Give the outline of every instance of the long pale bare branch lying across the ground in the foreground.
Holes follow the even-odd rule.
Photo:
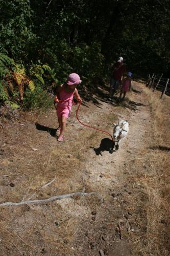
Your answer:
[[[47,198],[47,199],[27,200],[27,201],[21,201],[21,202],[18,202],[18,203],[6,202],[6,203],[0,204],[0,206],[21,205],[21,204],[41,204],[41,203],[48,203],[48,202],[51,202],[51,201],[67,198],[67,197],[72,198],[74,196],[90,196],[90,195],[98,195],[98,197],[100,197],[100,199],[101,199],[101,204],[104,202],[103,197],[100,194],[96,193],[96,192],[91,192],[91,193],[75,192],[75,193],[71,193],[71,194],[53,196],[53,197],[50,197],[50,198]]]

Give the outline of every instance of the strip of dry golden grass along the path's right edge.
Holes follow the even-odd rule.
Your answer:
[[[143,255],[169,255],[169,97],[159,99],[158,93],[144,88],[152,111],[152,134],[148,146],[145,164],[148,173],[138,182],[145,193],[145,212],[147,230],[142,243],[136,245],[135,251]]]

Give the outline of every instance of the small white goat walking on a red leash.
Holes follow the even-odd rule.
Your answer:
[[[118,123],[114,124],[113,138],[117,142],[115,146],[116,150],[118,150],[120,141],[127,136],[128,132],[129,132],[129,123],[127,120],[118,120]]]

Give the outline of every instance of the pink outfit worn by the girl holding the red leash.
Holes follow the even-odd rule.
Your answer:
[[[71,111],[72,99],[74,92],[67,93],[64,89],[61,89],[58,95],[59,103],[57,104],[57,116],[68,118]]]

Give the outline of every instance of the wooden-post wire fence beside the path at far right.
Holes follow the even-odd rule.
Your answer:
[[[153,90],[153,92],[155,92],[156,90],[161,91],[161,99],[163,99],[164,94],[170,96],[169,78],[162,78],[162,76],[163,74],[152,74],[152,76],[149,75],[146,82],[146,86]]]

